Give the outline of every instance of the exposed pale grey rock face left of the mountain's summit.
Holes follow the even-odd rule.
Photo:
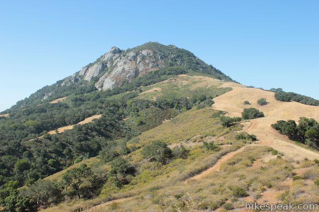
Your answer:
[[[69,85],[79,79],[91,81],[97,77],[96,88],[105,90],[164,66],[164,57],[161,58],[152,50],[123,51],[117,47],[112,47],[108,53],[102,55],[96,62],[83,67],[78,73],[64,79],[61,85]]]

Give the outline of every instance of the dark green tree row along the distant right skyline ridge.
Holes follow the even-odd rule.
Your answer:
[[[272,88],[271,91],[275,92],[275,98],[282,102],[298,102],[305,105],[319,106],[319,100],[307,97],[301,94],[296,94],[293,92],[285,92],[281,88]]]

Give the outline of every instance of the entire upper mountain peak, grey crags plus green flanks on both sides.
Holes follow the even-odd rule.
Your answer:
[[[150,71],[167,67],[179,67],[187,73],[197,72],[216,79],[232,81],[221,71],[206,64],[187,50],[173,45],[165,46],[157,42],[149,42],[127,50],[112,47],[108,53],[83,67],[79,72],[39,89],[29,98],[17,102],[11,109],[35,106],[70,94],[90,93],[96,89],[112,89]]]

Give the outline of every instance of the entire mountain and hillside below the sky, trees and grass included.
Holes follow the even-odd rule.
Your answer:
[[[1,113],[0,205],[221,212],[244,211],[247,201],[317,204],[319,106],[285,95],[241,85],[172,45],[114,47]]]

